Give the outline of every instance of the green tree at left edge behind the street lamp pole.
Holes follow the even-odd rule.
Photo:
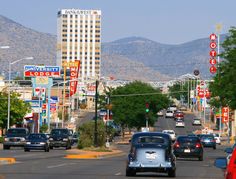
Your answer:
[[[30,105],[19,97],[19,93],[11,92],[10,126],[22,123],[24,116],[30,111]],[[0,128],[4,129],[7,127],[8,93],[1,91],[0,99]]]

